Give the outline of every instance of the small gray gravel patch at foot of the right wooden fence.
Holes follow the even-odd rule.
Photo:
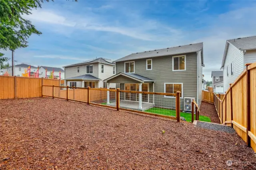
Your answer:
[[[220,125],[220,124],[218,125],[218,124],[198,121],[196,123],[196,126],[206,128],[206,129],[212,129],[215,131],[222,131],[222,132],[226,132],[226,133],[236,133],[236,131],[233,128],[225,126],[225,125]]]

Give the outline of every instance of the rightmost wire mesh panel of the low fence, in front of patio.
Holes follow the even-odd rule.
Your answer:
[[[176,117],[176,97],[120,92],[120,107]]]

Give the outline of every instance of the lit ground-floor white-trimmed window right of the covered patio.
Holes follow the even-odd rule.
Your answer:
[[[165,93],[180,92],[180,98],[183,98],[183,83],[164,83]],[[165,98],[175,98],[174,96],[164,96]]]

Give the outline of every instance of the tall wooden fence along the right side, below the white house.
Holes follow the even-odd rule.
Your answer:
[[[256,63],[246,64],[222,99],[214,94],[214,105],[220,123],[233,127],[256,151]]]

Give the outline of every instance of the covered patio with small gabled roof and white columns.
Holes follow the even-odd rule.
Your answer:
[[[104,82],[107,82],[108,89],[110,83],[116,83],[117,88],[119,87],[120,90],[154,92],[155,80],[139,74],[120,72],[107,78]],[[109,91],[107,93],[107,105],[115,105],[115,102],[110,102],[109,100]],[[154,107],[154,94],[120,92],[120,107],[144,111]]]

